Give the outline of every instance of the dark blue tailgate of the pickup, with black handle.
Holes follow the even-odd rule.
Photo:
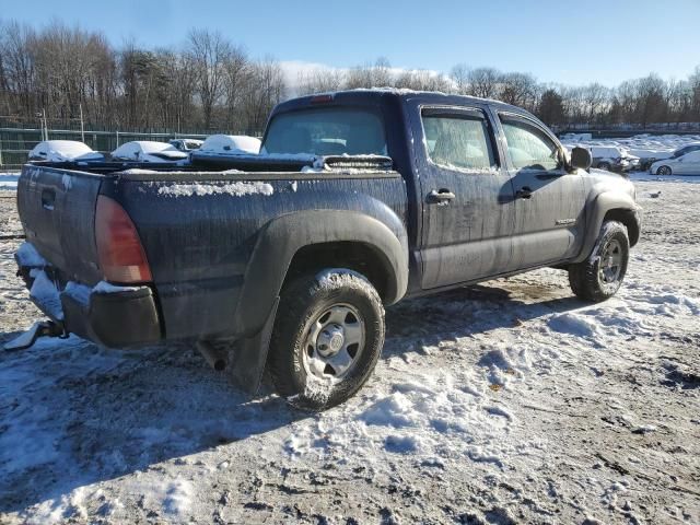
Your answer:
[[[18,210],[26,240],[67,280],[101,280],[95,246],[95,206],[108,176],[25,165],[18,183]]]

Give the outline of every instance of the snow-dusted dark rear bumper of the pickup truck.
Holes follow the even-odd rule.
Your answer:
[[[155,298],[151,288],[90,288],[75,282],[57,284],[50,267],[19,265],[36,306],[68,332],[97,345],[124,348],[160,341]],[[35,287],[35,281],[42,280]],[[58,306],[60,305],[60,306]]]

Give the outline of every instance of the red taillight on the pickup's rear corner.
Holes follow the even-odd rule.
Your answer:
[[[95,241],[100,268],[107,281],[133,283],[152,280],[133,222],[124,208],[103,195],[97,197]]]

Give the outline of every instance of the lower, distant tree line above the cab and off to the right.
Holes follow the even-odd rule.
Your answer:
[[[550,126],[700,121],[700,66],[684,80],[665,81],[650,73],[616,88],[598,82],[580,86],[541,83],[530,73],[464,63],[452,68],[448,75],[393,70],[382,58],[348,71],[311,71],[300,79],[302,93],[381,85],[495,98],[524,107]]]

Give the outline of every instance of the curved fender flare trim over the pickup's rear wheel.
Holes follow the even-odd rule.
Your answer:
[[[382,256],[388,272],[386,304],[406,294],[408,287],[408,238],[398,217],[386,213],[385,222],[358,211],[307,210],[281,215],[267,223],[253,249],[235,312],[240,334],[250,337],[269,317],[290,264],[305,246],[357,242]]]

